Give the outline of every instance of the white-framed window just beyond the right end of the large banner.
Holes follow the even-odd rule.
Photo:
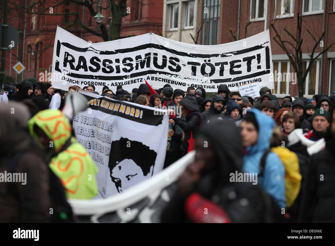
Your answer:
[[[273,81],[274,89],[272,89],[272,94],[280,97],[289,95],[289,85],[291,82],[289,61],[273,62]]]

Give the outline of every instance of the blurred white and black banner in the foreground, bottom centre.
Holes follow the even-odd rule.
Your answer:
[[[160,214],[178,188],[176,180],[194,161],[191,151],[151,179],[106,199],[69,199],[79,223],[159,223]]]

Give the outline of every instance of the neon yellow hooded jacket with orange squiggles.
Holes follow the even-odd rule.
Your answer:
[[[31,136],[38,141],[34,125],[41,128],[58,153],[71,137],[71,125],[60,110],[46,109],[28,121]],[[91,199],[97,195],[95,174],[98,169],[85,148],[72,137],[64,151],[51,159],[49,167],[61,180],[68,198]]]

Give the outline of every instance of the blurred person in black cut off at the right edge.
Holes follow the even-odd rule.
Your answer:
[[[326,146],[310,158],[300,222],[335,222],[335,107],[331,112],[331,135],[325,138]]]

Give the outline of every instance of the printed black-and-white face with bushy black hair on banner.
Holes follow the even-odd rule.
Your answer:
[[[157,153],[138,141],[127,138],[113,141],[108,167],[118,192],[153,175]]]

